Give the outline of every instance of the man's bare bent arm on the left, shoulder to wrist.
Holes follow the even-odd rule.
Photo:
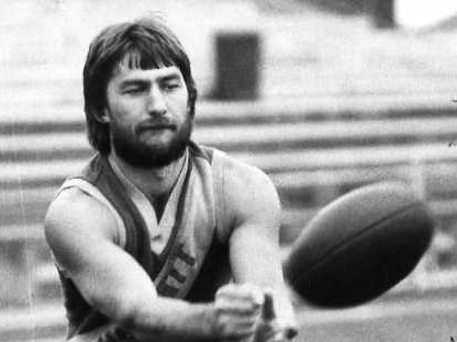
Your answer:
[[[115,244],[115,223],[99,202],[70,190],[51,206],[46,239],[59,265],[93,308],[135,337],[180,340],[227,334],[214,306],[158,297],[137,262]]]

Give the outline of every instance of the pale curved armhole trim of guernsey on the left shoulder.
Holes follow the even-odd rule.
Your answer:
[[[96,198],[97,201],[99,201],[100,203],[102,203],[109,210],[110,213],[113,215],[114,220],[116,223],[116,244],[120,246],[121,248],[125,247],[125,227],[124,227],[124,221],[122,220],[121,216],[119,215],[119,213],[115,210],[115,208],[113,207],[113,205],[110,203],[110,201],[107,200],[107,197],[103,196],[103,194],[96,187],[93,186],[91,183],[89,183],[88,181],[80,179],[80,178],[75,178],[75,179],[69,179],[67,181],[65,181],[65,183],[60,186],[60,189],[58,190],[57,194],[59,194],[60,192],[65,191],[66,189],[69,187],[77,187],[80,191],[85,192],[86,194],[88,194],[89,196]]]

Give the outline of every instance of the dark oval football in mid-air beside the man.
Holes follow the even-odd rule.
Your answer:
[[[324,207],[285,261],[285,277],[306,301],[355,306],[403,280],[433,236],[433,220],[400,183],[355,190]]]

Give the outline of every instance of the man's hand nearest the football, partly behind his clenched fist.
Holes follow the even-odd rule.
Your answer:
[[[298,326],[290,300],[285,295],[266,292],[255,342],[287,342],[297,334]]]

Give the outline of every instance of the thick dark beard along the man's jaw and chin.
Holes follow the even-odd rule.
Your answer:
[[[163,168],[182,157],[190,141],[192,121],[190,117],[178,128],[172,139],[165,146],[149,146],[141,142],[136,137],[111,126],[112,147],[119,158],[136,168]]]

